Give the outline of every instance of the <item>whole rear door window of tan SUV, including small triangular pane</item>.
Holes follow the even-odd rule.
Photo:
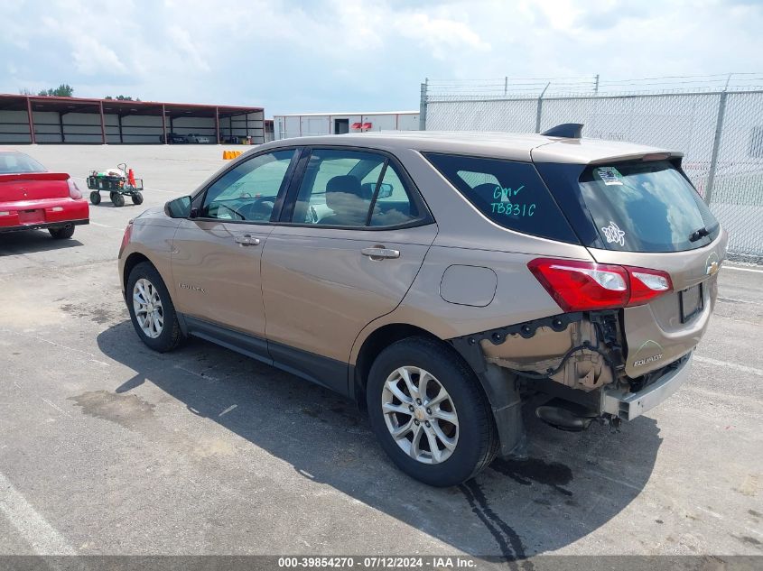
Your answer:
[[[316,226],[399,226],[419,219],[395,167],[373,152],[316,149],[297,195],[293,222]]]

